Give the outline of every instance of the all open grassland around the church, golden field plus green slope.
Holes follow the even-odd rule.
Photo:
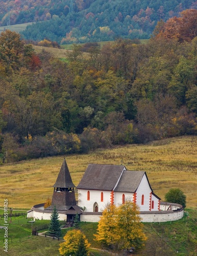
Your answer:
[[[66,161],[75,185],[78,185],[89,163],[123,162],[129,170],[146,171],[154,192],[161,199],[164,199],[170,188],[181,188],[187,196],[186,211],[189,218],[186,214],[182,220],[170,223],[145,223],[144,232],[148,239],[145,247],[137,251],[137,255],[152,256],[154,252],[156,256],[174,256],[179,251],[179,255],[186,256],[195,255],[196,248],[196,151],[197,138],[184,136],[153,141],[146,145],[118,146],[113,150],[97,150],[90,154],[66,156]],[[30,209],[35,204],[45,202],[48,197],[51,198],[53,184],[62,161],[63,156],[48,157],[1,166],[1,202],[8,199],[9,207]],[[43,223],[47,221],[36,220],[33,227]],[[21,255],[48,255],[50,251],[53,255],[59,255],[59,241],[51,240],[50,243],[45,238],[28,238],[28,234],[31,234],[31,225],[23,216],[12,218],[12,223],[9,224],[11,255],[20,255],[19,252]],[[96,223],[81,223],[80,228],[86,234],[91,247],[101,248],[101,245],[92,239],[96,233]],[[66,230],[63,234],[65,232]],[[0,234],[0,239],[3,240],[3,233]],[[43,244],[47,249],[40,251]],[[3,244],[0,247],[2,249]],[[96,251],[92,253],[95,256],[102,255]]]

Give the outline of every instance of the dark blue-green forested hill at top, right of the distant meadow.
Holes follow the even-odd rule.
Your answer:
[[[87,8],[88,7],[88,8]],[[26,39],[43,38],[61,44],[114,40],[115,38],[149,38],[157,22],[179,16],[185,9],[196,8],[192,1],[76,1],[73,13],[52,16],[47,22],[29,26],[22,34]]]

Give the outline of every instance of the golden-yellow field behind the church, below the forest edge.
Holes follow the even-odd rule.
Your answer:
[[[197,137],[154,141],[146,145],[117,146],[86,155],[67,155],[73,183],[77,186],[89,163],[123,164],[129,170],[144,170],[162,200],[170,188],[179,187],[187,196],[187,208],[197,207]],[[52,198],[64,156],[48,157],[0,167],[0,206],[30,209]]]

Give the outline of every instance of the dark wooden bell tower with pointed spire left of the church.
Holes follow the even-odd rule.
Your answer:
[[[76,186],[72,183],[65,158],[62,163],[62,167],[60,168],[56,183],[53,185],[53,187],[54,194],[52,198],[52,205],[47,209],[56,205],[58,210],[67,210],[70,206],[76,205],[74,191],[74,187]]]

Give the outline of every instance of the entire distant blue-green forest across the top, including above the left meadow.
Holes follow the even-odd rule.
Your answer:
[[[24,38],[44,38],[59,44],[149,38],[157,22],[196,9],[195,0],[70,0],[1,1],[1,26],[35,22],[22,32]],[[72,12],[73,9],[73,12]]]

